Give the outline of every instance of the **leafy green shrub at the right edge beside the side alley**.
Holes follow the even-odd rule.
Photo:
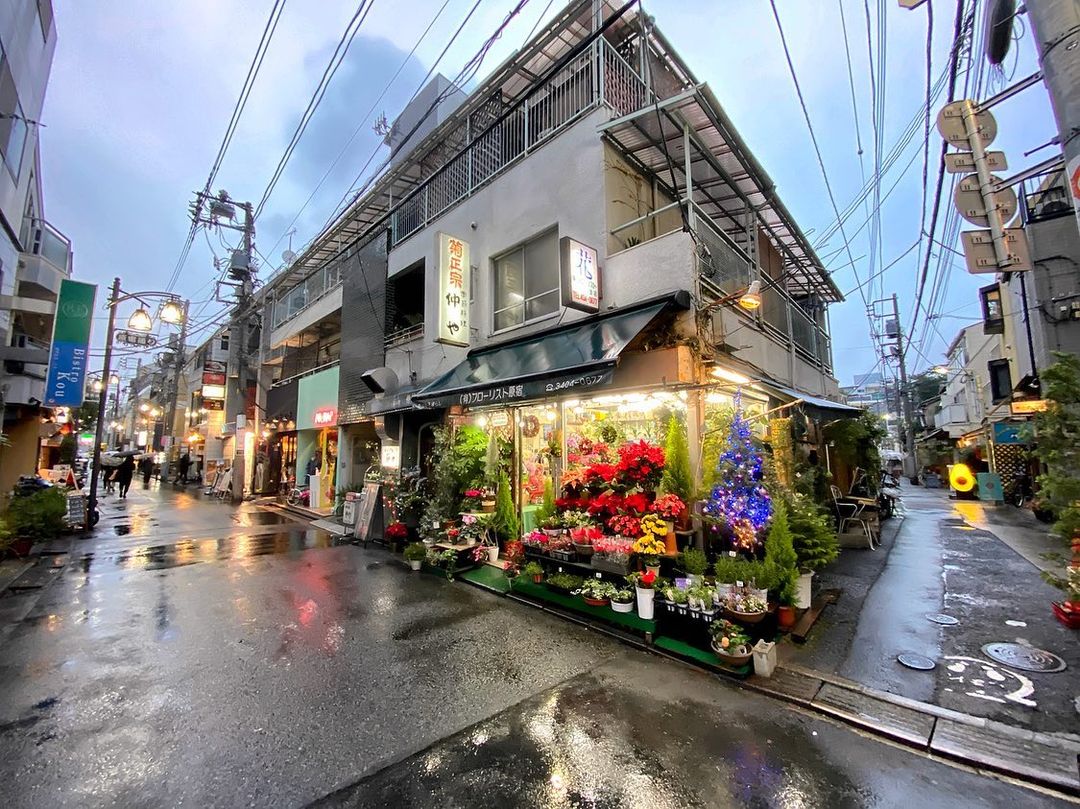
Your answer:
[[[1070,545],[1080,541],[1080,359],[1054,352],[1054,360],[1039,375],[1049,400],[1047,410],[1036,416],[1036,454],[1047,464],[1039,475],[1039,497],[1056,515],[1054,532]],[[1064,554],[1049,557],[1063,566],[1070,564]],[[1047,571],[1043,578],[1066,591],[1069,601],[1080,601],[1080,576],[1075,571],[1071,576]]]

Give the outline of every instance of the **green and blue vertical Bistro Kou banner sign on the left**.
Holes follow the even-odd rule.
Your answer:
[[[51,407],[78,407],[82,404],[96,292],[94,284],[68,279],[60,281],[45,379],[45,404]]]

